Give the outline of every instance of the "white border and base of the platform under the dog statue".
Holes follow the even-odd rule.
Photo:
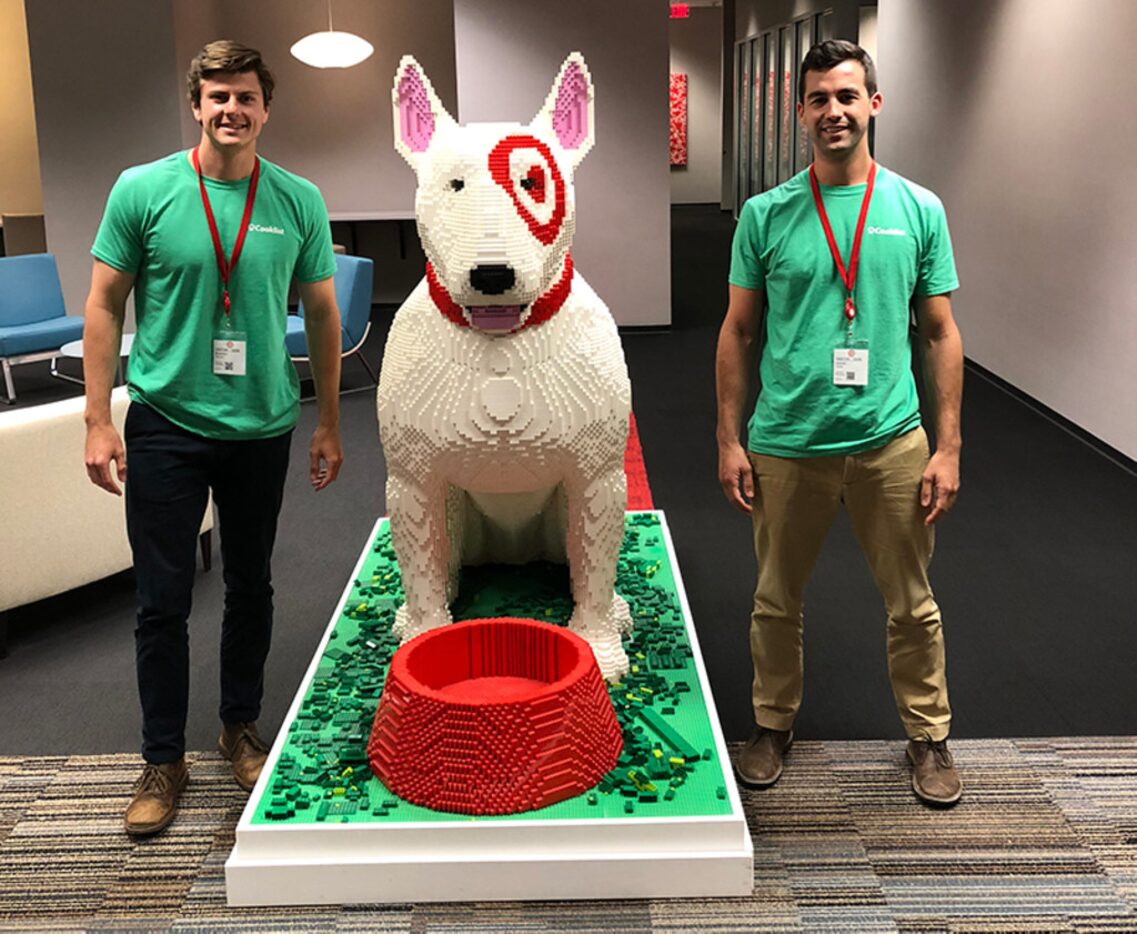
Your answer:
[[[293,721],[324,648],[359,576],[348,580],[273,744],[260,782],[236,828],[225,863],[231,906],[343,904],[549,899],[641,899],[748,895],[754,850],[741,802],[729,774],[719,726],[666,520],[658,513],[687,636],[694,651],[729,813],[705,817],[634,817],[588,820],[470,823],[254,824]],[[382,520],[380,520],[382,521]]]

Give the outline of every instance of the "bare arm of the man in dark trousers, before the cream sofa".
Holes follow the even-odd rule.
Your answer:
[[[126,451],[110,420],[110,389],[115,385],[126,296],[134,288],[134,274],[122,272],[98,259],[91,271],[91,291],[83,311],[83,382],[86,385],[86,476],[91,482],[116,496],[126,480]],[[111,474],[110,464],[115,464]]]

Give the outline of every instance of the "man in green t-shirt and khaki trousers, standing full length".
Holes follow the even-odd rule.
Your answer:
[[[813,165],[742,207],[719,336],[719,481],[750,513],[758,581],[750,618],[755,729],[737,771],[778,780],[802,701],[802,594],[841,504],[888,612],[888,662],[915,793],[953,804],[951,708],[939,607],[928,584],[932,527],[960,488],[963,345],[944,208],[878,166],[872,59],[827,40],[802,63],[798,118]],[[912,373],[918,327],[936,452]],[[764,328],[764,340],[760,340]],[[754,354],[760,391],[739,440]]]

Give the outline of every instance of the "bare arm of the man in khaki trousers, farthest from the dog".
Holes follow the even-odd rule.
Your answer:
[[[916,328],[928,404],[936,430],[936,453],[920,483],[920,504],[931,506],[930,526],[955,505],[960,493],[960,405],[963,399],[963,339],[948,295],[916,296]]]

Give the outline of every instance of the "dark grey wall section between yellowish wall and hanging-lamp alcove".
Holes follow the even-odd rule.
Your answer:
[[[180,146],[168,3],[27,3],[43,213],[69,314],[82,314],[91,242],[127,165]]]

